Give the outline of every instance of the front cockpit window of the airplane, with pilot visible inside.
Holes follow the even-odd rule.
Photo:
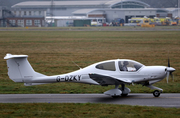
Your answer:
[[[142,64],[135,61],[119,61],[118,65],[120,71],[127,72],[136,72],[143,66]]]

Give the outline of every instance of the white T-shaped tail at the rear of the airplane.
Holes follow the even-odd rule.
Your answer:
[[[28,55],[11,55],[6,54],[4,59],[7,59],[8,76],[14,82],[25,83],[24,85],[38,85],[44,83],[30,83],[31,80],[38,77],[47,77],[46,75],[35,72],[29,61]]]

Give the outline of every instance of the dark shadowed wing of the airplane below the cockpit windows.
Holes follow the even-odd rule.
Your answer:
[[[89,77],[99,83],[101,86],[107,85],[119,85],[119,84],[131,84],[132,81],[128,79],[122,79],[113,77],[110,75],[102,75],[102,74],[89,74]]]

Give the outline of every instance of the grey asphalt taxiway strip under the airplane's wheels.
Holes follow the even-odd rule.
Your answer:
[[[129,94],[112,98],[104,94],[0,94],[0,103],[104,103],[180,108],[179,93]]]

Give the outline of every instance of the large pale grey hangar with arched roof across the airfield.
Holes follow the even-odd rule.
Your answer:
[[[86,16],[87,18],[115,18],[128,21],[134,16],[155,16],[156,10],[138,0],[83,0],[83,1],[28,1],[12,6],[13,9],[45,9],[46,16]]]

